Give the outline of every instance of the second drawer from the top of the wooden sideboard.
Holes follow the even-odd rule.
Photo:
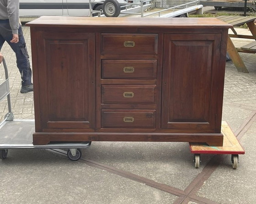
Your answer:
[[[157,60],[102,60],[102,79],[156,79]]]

